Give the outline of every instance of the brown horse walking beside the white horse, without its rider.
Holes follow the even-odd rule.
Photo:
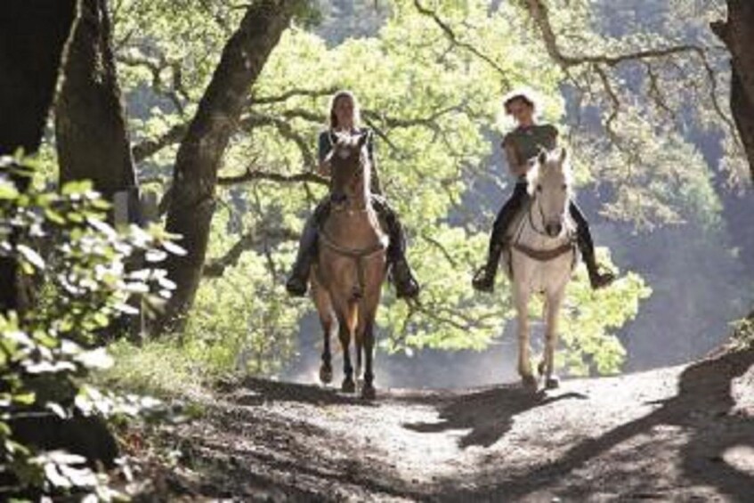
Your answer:
[[[356,377],[365,361],[361,396],[374,398],[374,324],[385,280],[387,239],[371,205],[368,137],[339,135],[329,154],[331,209],[320,229],[319,254],[313,265],[312,296],[324,330],[320,380],[332,380],[330,332],[335,322],[343,348],[345,378],[341,389],[353,393],[351,351],[356,345]]]

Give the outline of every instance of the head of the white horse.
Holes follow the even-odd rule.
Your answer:
[[[529,195],[534,210],[539,211],[548,236],[556,238],[566,231],[568,206],[571,200],[571,167],[565,149],[559,152],[542,150],[527,174]]]

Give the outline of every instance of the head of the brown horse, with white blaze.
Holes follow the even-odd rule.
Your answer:
[[[331,198],[336,205],[361,205],[369,197],[368,134],[336,134],[329,153]]]

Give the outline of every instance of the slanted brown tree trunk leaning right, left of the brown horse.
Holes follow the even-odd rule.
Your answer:
[[[189,131],[181,142],[174,167],[167,210],[167,231],[182,235],[188,252],[171,257],[168,277],[177,288],[158,321],[158,333],[181,330],[202,275],[210,223],[215,210],[217,170],[236,130],[251,85],[280,40],[303,0],[258,0],[241,20],[223,49],[223,56]]]

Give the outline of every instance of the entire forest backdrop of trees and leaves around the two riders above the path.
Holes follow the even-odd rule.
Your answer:
[[[317,349],[301,343],[313,305],[284,283],[328,194],[317,138],[338,90],[354,93],[374,134],[382,190],[422,285],[419,302],[384,288],[385,360],[481,353],[507,339],[507,280],[494,296],[470,280],[515,183],[500,148],[514,126],[503,96],[515,89],[536,96],[538,119],[559,131],[597,254],[619,275],[594,291],[582,266],[574,273],[559,368],[684,361],[750,311],[754,61],[742,47],[754,42],[754,11],[741,0],[56,8],[64,20],[34,12],[45,26],[35,43],[4,30],[28,46],[0,58],[9,81],[28,64],[49,67],[45,82],[40,70],[39,83],[0,87],[3,110],[23,102],[29,112],[0,126],[0,440],[12,483],[44,485],[81,464],[19,442],[15,421],[142,407],[85,385],[110,363],[102,346],[116,353],[116,377],[137,387],[159,372],[182,383],[285,375]],[[39,91],[34,106],[21,101],[27,91]]]

